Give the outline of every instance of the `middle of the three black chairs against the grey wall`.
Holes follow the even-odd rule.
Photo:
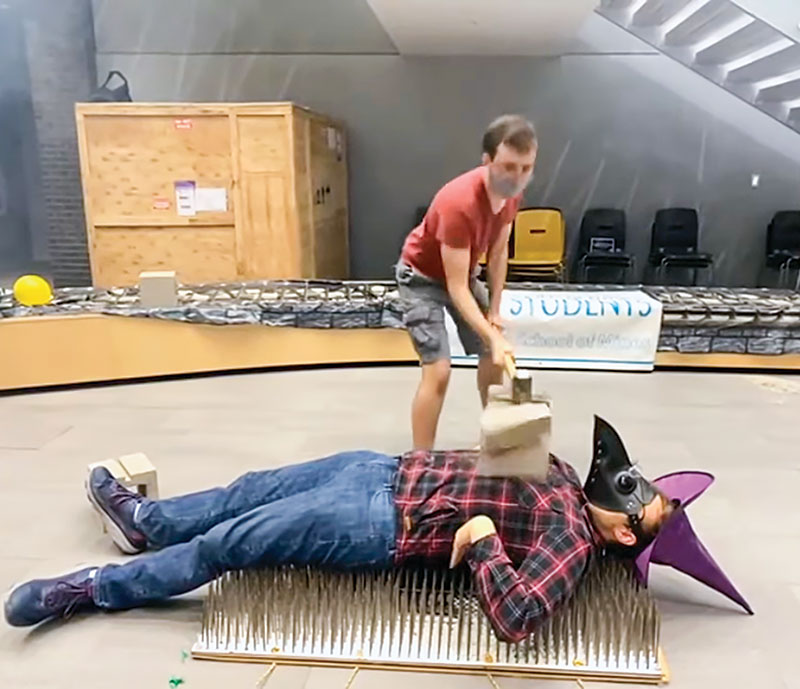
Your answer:
[[[714,257],[697,250],[698,225],[693,208],[662,208],[656,213],[649,263],[655,267],[658,281],[670,268],[691,270],[693,285],[697,284],[698,270],[708,270],[708,281],[713,281]]]

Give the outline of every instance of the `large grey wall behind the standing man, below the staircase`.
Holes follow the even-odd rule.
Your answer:
[[[702,248],[718,257],[717,281],[753,285],[769,218],[800,206],[800,137],[628,37],[614,50],[617,37],[599,19],[576,43],[580,54],[558,59],[344,54],[349,36],[326,39],[324,51],[309,40],[315,54],[305,55],[250,54],[257,45],[233,39],[228,54],[192,41],[191,54],[166,54],[146,38],[131,50],[113,20],[116,1],[98,3],[98,70],[124,71],[136,100],[290,99],[347,123],[355,277],[390,274],[415,207],[478,162],[483,127],[505,111],[538,124],[540,161],[526,200],[564,209],[571,246],[586,208],[623,207],[641,268],[656,209],[696,206]],[[594,47],[598,29],[602,48]],[[390,53],[384,39],[363,42]]]

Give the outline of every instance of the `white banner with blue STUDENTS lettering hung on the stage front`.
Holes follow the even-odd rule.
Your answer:
[[[639,290],[505,290],[500,314],[520,368],[652,371],[661,308]],[[453,364],[476,366],[449,314],[446,325]]]

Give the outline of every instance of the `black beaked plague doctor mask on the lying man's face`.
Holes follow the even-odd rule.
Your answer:
[[[646,541],[642,510],[658,494],[631,463],[622,439],[607,421],[594,417],[592,466],[583,487],[587,500],[604,510],[622,512],[639,542]]]

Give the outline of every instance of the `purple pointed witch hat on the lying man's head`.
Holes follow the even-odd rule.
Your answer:
[[[752,608],[700,542],[686,515],[686,508],[705,493],[714,477],[703,471],[679,471],[653,483],[671,500],[679,500],[681,508],[636,558],[638,579],[647,585],[651,562],[669,565],[719,591],[752,615]]]

